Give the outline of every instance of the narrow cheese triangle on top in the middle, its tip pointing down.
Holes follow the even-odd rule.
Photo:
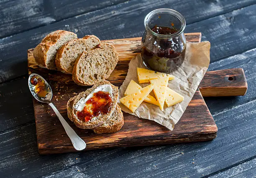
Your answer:
[[[159,107],[161,110],[164,110],[164,101],[166,95],[166,88],[168,85],[169,77],[161,77],[158,79],[150,80],[150,83],[153,85],[153,91],[156,96],[156,100],[159,102]]]

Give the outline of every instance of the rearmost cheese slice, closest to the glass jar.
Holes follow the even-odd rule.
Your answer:
[[[173,80],[175,77],[174,75],[155,72],[154,70],[148,70],[144,68],[137,68],[137,75],[139,83],[149,83],[149,80],[154,80],[161,77],[169,77],[169,80]]]

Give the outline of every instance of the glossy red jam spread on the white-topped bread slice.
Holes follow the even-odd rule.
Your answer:
[[[107,114],[111,108],[112,99],[110,94],[103,91],[93,93],[92,98],[86,101],[82,111],[77,112],[77,118],[84,122],[91,120],[98,115]]]

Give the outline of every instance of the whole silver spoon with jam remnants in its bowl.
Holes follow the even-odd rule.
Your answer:
[[[59,118],[62,126],[64,127],[67,135],[69,136],[72,145],[76,150],[84,150],[86,148],[86,143],[82,138],[80,138],[77,133],[70,127],[67,121],[62,117],[59,113],[57,108],[51,103],[52,98],[52,90],[51,86],[47,81],[41,76],[36,73],[32,73],[28,77],[28,87],[30,92],[32,93],[33,97],[42,103],[47,103],[56,113],[57,117]]]

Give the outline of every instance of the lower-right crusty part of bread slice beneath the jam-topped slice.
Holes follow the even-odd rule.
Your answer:
[[[119,105],[116,105],[114,113],[102,125],[93,128],[95,133],[113,133],[117,132],[123,127],[123,113]]]

